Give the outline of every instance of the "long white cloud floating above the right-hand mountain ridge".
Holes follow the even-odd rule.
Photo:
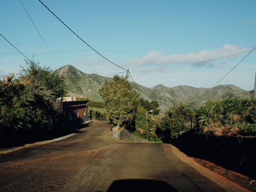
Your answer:
[[[252,50],[248,47],[239,47],[236,45],[225,44],[218,50],[202,50],[200,52],[176,53],[172,55],[163,55],[163,53],[154,50],[147,53],[143,58],[130,59],[129,64],[136,66],[145,65],[168,65],[168,64],[198,64],[213,61],[219,58],[234,57]]]

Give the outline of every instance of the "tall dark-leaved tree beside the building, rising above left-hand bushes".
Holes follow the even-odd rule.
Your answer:
[[[40,131],[50,130],[59,121],[59,98],[64,96],[63,82],[58,72],[48,67],[39,66],[34,61],[26,61],[26,65],[21,69],[20,82],[25,85],[24,96],[32,118],[31,125]]]

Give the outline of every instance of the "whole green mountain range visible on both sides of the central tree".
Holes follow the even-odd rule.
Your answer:
[[[89,97],[89,99],[95,101],[102,101],[98,91],[105,80],[110,80],[109,77],[102,77],[98,74],[86,74],[71,65],[57,69],[59,74],[61,74],[62,69],[69,96]],[[148,101],[158,101],[162,111],[167,110],[168,107],[179,102],[197,108],[210,100],[215,101],[235,97],[249,98],[253,95],[252,91],[244,91],[235,85],[218,85],[212,89],[193,88],[187,85],[168,88],[162,84],[154,86],[153,88],[146,88],[138,83],[136,83],[136,86],[140,89],[140,93],[144,99],[148,99]],[[207,94],[202,96],[206,91],[208,91]]]

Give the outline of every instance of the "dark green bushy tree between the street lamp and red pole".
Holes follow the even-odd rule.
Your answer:
[[[191,110],[184,104],[176,104],[165,112],[165,116],[157,123],[156,134],[163,142],[175,139],[181,131],[188,131]]]

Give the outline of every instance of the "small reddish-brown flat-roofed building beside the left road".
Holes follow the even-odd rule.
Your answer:
[[[88,120],[88,101],[63,101],[63,112],[69,121]]]

